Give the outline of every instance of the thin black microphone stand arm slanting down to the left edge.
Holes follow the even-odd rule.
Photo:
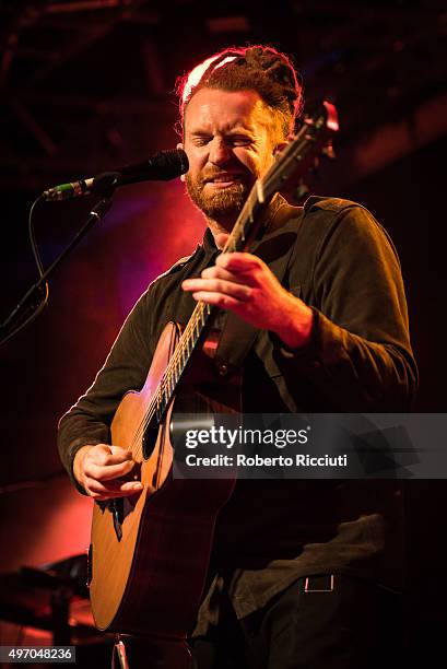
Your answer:
[[[102,189],[103,192],[102,199],[97,202],[89,214],[89,219],[81,227],[81,230],[75,234],[73,239],[63,249],[63,251],[56,258],[56,260],[49,266],[49,268],[42,274],[40,279],[31,286],[31,289],[25,293],[22,297],[17,306],[11,312],[8,316],[7,320],[0,326],[0,344],[5,343],[11,337],[13,337],[22,327],[25,327],[27,322],[30,322],[34,316],[37,315],[38,308],[43,305],[45,301],[45,284],[47,280],[52,275],[59,265],[67,258],[67,256],[73,250],[75,246],[81,242],[81,239],[86,235],[91,227],[97,222],[104,219],[106,213],[111,207],[111,196],[115,190],[115,183],[109,183],[104,185]],[[24,315],[31,310],[31,314],[25,318],[24,321],[19,322],[20,319],[23,319]],[[14,329],[14,326],[15,329]]]

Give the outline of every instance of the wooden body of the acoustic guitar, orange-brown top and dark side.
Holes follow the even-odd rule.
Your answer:
[[[173,403],[152,453],[142,453],[140,424],[178,339],[178,327],[168,324],[144,387],[123,397],[111,423],[111,443],[132,451],[144,488],[132,497],[94,505],[90,582],[99,630],[173,642],[185,639],[195,624],[215,517],[234,488],[233,480],[173,478]]]

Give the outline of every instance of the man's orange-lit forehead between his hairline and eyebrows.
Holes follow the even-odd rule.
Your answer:
[[[266,122],[266,105],[256,91],[201,89],[185,110],[185,129],[187,132],[205,127],[219,127],[222,132],[238,127],[255,130],[258,122]]]

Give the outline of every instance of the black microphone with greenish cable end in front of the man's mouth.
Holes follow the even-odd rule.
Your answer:
[[[188,156],[183,149],[158,151],[152,157],[134,165],[125,165],[111,172],[103,172],[89,179],[60,184],[44,190],[44,200],[67,200],[80,196],[109,196],[119,186],[140,181],[168,181],[188,172]]]

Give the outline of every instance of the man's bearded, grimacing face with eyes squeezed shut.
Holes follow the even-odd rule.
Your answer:
[[[188,193],[209,218],[233,225],[273,162],[275,126],[255,91],[201,89],[185,113]]]

